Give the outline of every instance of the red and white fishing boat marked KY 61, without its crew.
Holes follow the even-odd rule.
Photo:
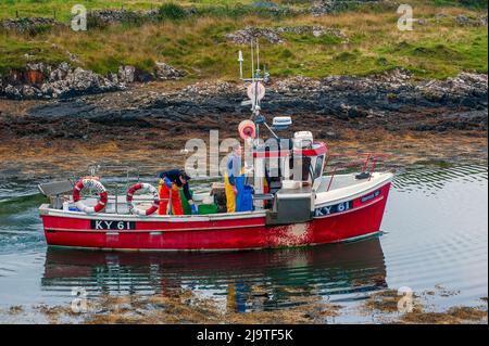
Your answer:
[[[252,114],[238,128],[251,157],[246,169],[251,198],[248,209],[162,215],[156,213],[158,190],[151,181],[141,179],[140,169],[127,168],[126,190],[121,194],[118,188],[115,193],[105,189],[105,181],[110,183],[112,178],[103,176],[103,165],[93,165],[86,177],[39,184],[41,193],[50,198],[39,208],[48,245],[117,251],[242,251],[354,241],[378,234],[393,178],[389,171],[376,171],[384,156],[364,154],[358,171],[340,174],[336,167],[325,169],[335,155],[310,131],[297,131],[290,138],[280,136],[292,119],[277,116],[268,125],[261,113],[268,74],[260,69],[258,42],[251,49],[251,78],[242,77],[241,52],[238,59],[250,99],[243,105],[251,105]],[[267,140],[261,138],[261,128],[271,134]],[[131,175],[131,169],[137,174]],[[199,210],[204,210],[201,207],[210,201],[220,204],[220,188],[206,178],[209,189],[193,194]]]

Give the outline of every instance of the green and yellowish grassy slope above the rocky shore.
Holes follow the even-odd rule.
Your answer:
[[[76,1],[5,2],[0,4],[3,16],[14,16],[15,11],[49,16],[57,8],[63,9],[58,15],[66,20],[71,2]],[[240,1],[244,5],[252,2]],[[310,4],[309,1],[277,2],[280,5],[291,4],[296,10]],[[128,10],[148,10],[156,8],[161,1],[92,0],[87,1],[87,8],[117,9],[123,3]],[[311,34],[285,34],[283,44],[262,40],[262,61],[269,66],[273,76],[367,75],[396,67],[410,69],[419,78],[444,78],[462,71],[487,73],[487,26],[460,25],[454,21],[460,14],[471,17],[487,14],[487,10],[479,9],[479,1],[414,1],[414,16],[426,23],[414,23],[412,31],[398,30],[399,15],[392,8],[359,7],[314,17],[308,13],[238,13],[235,11],[237,1],[179,3],[206,10],[179,20],[166,17],[152,23],[123,23],[89,28],[85,33],[68,28],[34,34],[0,33],[0,73],[20,68],[29,61],[57,63],[67,60],[66,51],[70,51],[78,57],[78,65],[101,74],[116,72],[120,65],[151,71],[156,61],[164,61],[186,71],[189,81],[202,78],[236,79],[237,51],[247,50],[247,47],[229,42],[226,34],[246,26],[300,25],[338,28],[347,35],[348,42],[335,36],[314,37]],[[448,17],[436,17],[440,13]]]

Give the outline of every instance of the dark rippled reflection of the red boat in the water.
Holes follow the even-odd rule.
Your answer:
[[[164,294],[179,287],[224,296],[236,310],[294,304],[300,297],[355,299],[385,287],[378,238],[309,248],[243,253],[104,253],[48,248],[45,291]]]

